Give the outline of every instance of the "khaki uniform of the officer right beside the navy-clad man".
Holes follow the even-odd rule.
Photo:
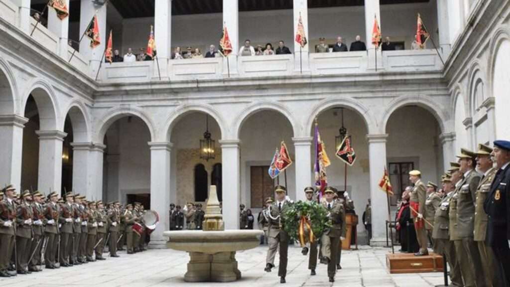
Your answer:
[[[491,183],[496,176],[496,169],[491,168],[484,175],[478,188],[476,189],[476,201],[475,201],[475,220],[474,220],[474,241],[478,246],[478,252],[480,253],[481,265],[483,266],[483,274],[486,279],[487,286],[492,286],[494,279],[494,252],[490,246],[486,245],[486,232],[488,217],[485,210],[483,210],[483,203],[486,201],[487,196],[491,190]]]

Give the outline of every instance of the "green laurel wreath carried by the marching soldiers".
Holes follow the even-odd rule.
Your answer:
[[[301,216],[310,218],[310,224],[315,238],[320,239],[322,233],[331,227],[331,221],[327,217],[327,210],[316,201],[298,201],[291,203],[283,213],[285,219],[284,230],[293,241],[299,241],[299,222]]]

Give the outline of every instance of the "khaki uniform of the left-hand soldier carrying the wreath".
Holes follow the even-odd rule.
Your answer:
[[[288,203],[284,201],[274,202],[271,205],[271,211],[269,213],[269,229],[268,229],[268,245],[269,250],[267,252],[266,264],[274,261],[274,255],[271,259],[271,254],[275,254],[275,250],[279,245],[279,267],[278,267],[278,276],[285,277],[287,276],[287,254],[289,251],[289,234],[285,232],[283,225],[285,224],[285,219],[282,218],[282,214],[285,209],[288,207]],[[274,266],[274,265],[273,265]]]

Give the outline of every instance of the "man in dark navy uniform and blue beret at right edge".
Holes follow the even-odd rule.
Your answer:
[[[496,162],[496,175],[483,209],[489,217],[487,243],[494,250],[496,279],[494,283],[510,284],[510,141],[495,140],[491,156]]]

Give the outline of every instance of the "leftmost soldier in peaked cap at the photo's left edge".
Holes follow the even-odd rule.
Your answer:
[[[7,272],[15,241],[16,206],[12,185],[4,187],[5,199],[0,202],[0,277],[10,277]]]

